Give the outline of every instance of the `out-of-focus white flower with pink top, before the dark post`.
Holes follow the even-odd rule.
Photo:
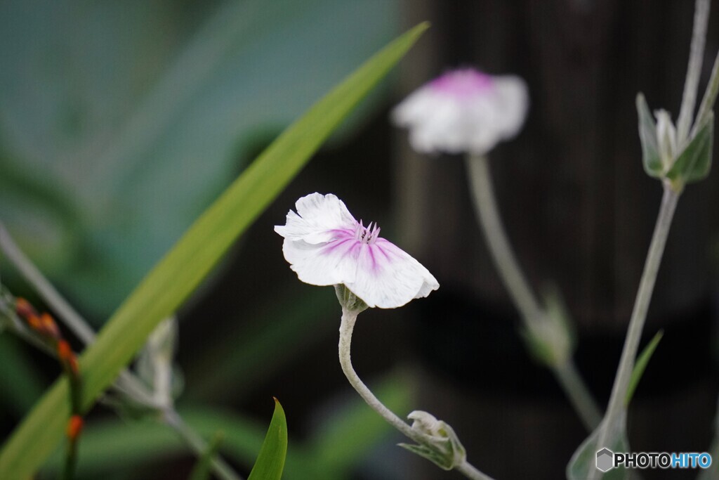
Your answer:
[[[409,128],[418,152],[484,155],[518,134],[528,105],[521,78],[464,68],[426,83],[395,107],[392,117]]]

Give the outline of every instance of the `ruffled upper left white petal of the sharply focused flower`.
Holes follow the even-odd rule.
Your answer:
[[[290,210],[286,225],[275,226],[275,232],[287,239],[319,244],[333,240],[337,230],[352,230],[356,223],[344,202],[333,194],[309,194],[299,199]]]

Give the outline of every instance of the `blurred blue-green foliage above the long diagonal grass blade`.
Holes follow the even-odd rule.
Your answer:
[[[0,2],[0,219],[104,320],[257,142],[395,35],[397,10]]]

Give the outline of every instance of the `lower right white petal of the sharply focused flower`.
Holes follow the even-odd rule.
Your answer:
[[[384,238],[362,243],[355,281],[344,284],[370,307],[395,308],[439,288],[434,276]]]

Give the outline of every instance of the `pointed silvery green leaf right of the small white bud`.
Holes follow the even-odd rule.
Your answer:
[[[713,140],[714,114],[710,113],[707,122],[674,162],[672,169],[667,173],[667,178],[684,184],[706,178],[712,167]]]

